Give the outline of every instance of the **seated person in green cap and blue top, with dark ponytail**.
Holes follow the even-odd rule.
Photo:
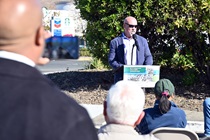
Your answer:
[[[145,116],[137,126],[141,134],[148,134],[159,127],[185,128],[185,112],[173,102],[175,89],[168,79],[159,80],[154,87],[156,101],[153,108],[145,109]]]

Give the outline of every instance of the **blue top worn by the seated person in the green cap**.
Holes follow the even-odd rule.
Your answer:
[[[145,109],[144,112],[145,116],[137,126],[142,134],[148,134],[159,127],[185,128],[187,125],[185,112],[173,102],[171,102],[171,109],[165,114],[159,110],[159,100],[155,101],[153,108]]]

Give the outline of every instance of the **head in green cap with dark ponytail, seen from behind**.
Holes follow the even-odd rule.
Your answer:
[[[168,100],[175,93],[174,85],[168,79],[160,79],[154,88],[155,96],[160,99],[159,109],[162,114],[167,113],[171,108]]]

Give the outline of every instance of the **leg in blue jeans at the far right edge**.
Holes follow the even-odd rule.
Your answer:
[[[200,140],[210,140],[210,98],[206,98],[203,102],[204,115],[204,137]]]

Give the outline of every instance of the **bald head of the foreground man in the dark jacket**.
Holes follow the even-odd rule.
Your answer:
[[[36,32],[42,26],[39,0],[0,0],[0,13],[0,49],[28,40],[35,42]]]

